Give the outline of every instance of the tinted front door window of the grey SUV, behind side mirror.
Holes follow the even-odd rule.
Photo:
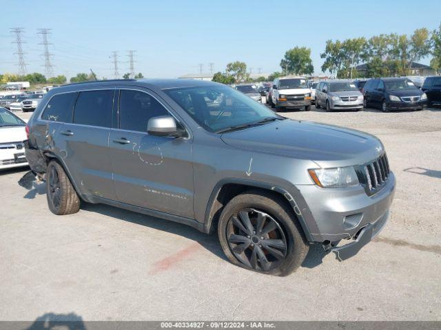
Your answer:
[[[143,91],[121,90],[119,97],[119,128],[130,131],[147,131],[152,117],[170,115],[156,98]]]

